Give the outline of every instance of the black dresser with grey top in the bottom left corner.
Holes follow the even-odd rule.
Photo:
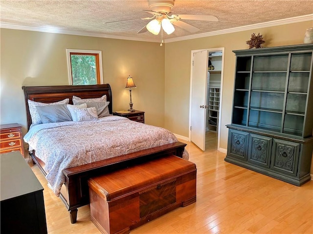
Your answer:
[[[46,234],[43,186],[18,151],[0,156],[1,234]]]

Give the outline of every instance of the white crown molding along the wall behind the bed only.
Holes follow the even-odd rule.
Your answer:
[[[157,39],[134,38],[134,37],[125,37],[125,36],[116,36],[116,35],[106,35],[106,34],[101,34],[101,33],[76,32],[76,31],[69,31],[69,30],[63,30],[63,29],[57,29],[57,28],[51,28],[51,27],[24,26],[20,24],[11,24],[11,23],[3,23],[3,22],[0,22],[0,28],[36,31],[36,32],[44,32],[44,33],[68,34],[68,35],[97,37],[97,38],[159,42],[158,38]]]

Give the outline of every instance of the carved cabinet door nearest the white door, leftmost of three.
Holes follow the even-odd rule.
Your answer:
[[[227,155],[239,157],[241,159],[247,158],[247,148],[248,148],[248,133],[239,132],[236,130],[229,130],[228,144],[231,145],[228,148]]]

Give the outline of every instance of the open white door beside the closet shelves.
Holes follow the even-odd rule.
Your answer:
[[[205,120],[207,97],[207,67],[209,52],[193,54],[191,90],[191,141],[205,150]]]

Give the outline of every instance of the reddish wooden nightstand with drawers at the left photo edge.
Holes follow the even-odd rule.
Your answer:
[[[25,157],[21,129],[18,123],[0,124],[0,154],[20,151]]]

